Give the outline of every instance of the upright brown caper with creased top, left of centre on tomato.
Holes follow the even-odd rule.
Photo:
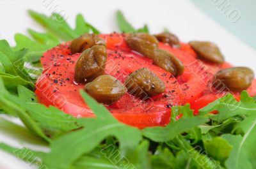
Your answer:
[[[75,80],[78,83],[91,82],[104,74],[107,59],[106,47],[95,45],[84,50],[76,63]]]

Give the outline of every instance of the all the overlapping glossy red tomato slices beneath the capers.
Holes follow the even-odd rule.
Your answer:
[[[147,67],[163,80],[166,91],[143,100],[126,93],[113,105],[105,105],[119,121],[138,128],[164,126],[170,122],[173,106],[190,103],[195,114],[198,114],[200,108],[228,93],[212,91],[211,87],[217,71],[232,67],[227,62],[211,64],[200,61],[188,43],[181,43],[180,48],[159,43],[159,48],[168,50],[185,66],[184,73],[175,78],[167,71],[153,65],[151,59],[132,51],[125,43],[125,36],[116,33],[100,34],[108,48],[106,74],[124,83],[130,73]],[[79,94],[79,90],[83,89],[84,85],[74,83],[74,67],[79,55],[79,53],[70,54],[70,42],[62,43],[45,52],[41,59],[45,70],[36,83],[36,95],[41,103],[54,105],[74,117],[93,117],[92,110]],[[256,81],[247,90],[251,96],[256,94],[255,86]],[[239,93],[234,96],[239,98]]]

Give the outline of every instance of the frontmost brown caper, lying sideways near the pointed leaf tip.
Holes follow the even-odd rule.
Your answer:
[[[122,82],[110,75],[101,75],[85,85],[84,90],[100,103],[111,104],[122,98],[127,89]]]

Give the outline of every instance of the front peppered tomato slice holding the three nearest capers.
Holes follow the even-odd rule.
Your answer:
[[[65,52],[68,54],[68,51]],[[58,55],[61,53],[58,52]],[[38,79],[36,95],[41,103],[54,105],[67,114],[72,114],[75,117],[93,117],[92,110],[79,95],[79,90],[83,89],[84,85],[74,84],[74,67],[79,55],[63,55],[62,59],[51,55],[56,61]],[[51,61],[47,57],[44,59],[44,61]],[[153,65],[147,57],[132,52],[108,50],[106,73],[118,78],[121,82],[124,82],[130,73],[143,67],[147,67],[163,80],[166,91],[154,98],[148,98],[146,101],[141,101],[127,93],[118,102],[110,106],[106,105],[106,107],[116,119],[131,126],[145,128],[166,125],[170,122],[170,108],[185,103],[176,78]]]

